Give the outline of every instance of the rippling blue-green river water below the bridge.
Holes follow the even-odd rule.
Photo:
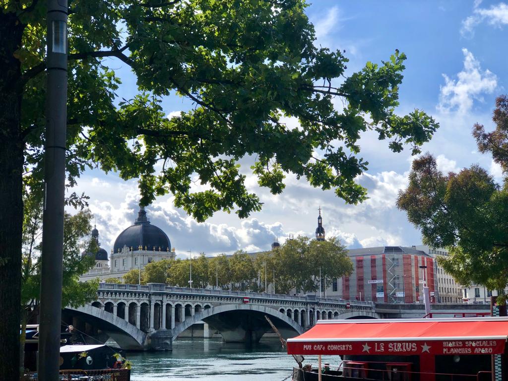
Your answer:
[[[173,352],[129,353],[132,381],[221,380],[282,381],[296,365],[277,339],[262,339],[250,347],[223,343],[220,339],[180,339]],[[323,356],[330,365],[339,363],[338,356]],[[309,356],[306,364],[317,364],[317,356]]]

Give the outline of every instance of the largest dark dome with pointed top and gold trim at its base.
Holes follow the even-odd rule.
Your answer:
[[[171,251],[171,242],[168,236],[161,229],[150,224],[150,221],[146,218],[146,212],[144,208],[141,208],[138,213],[138,218],[134,225],[125,229],[116,238],[115,244],[113,245],[113,251],[121,251],[123,246],[138,250],[139,246],[143,249],[158,251],[159,247],[161,251]]]

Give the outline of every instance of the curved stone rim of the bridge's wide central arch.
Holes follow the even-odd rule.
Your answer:
[[[205,308],[201,312],[196,312],[194,316],[189,316],[187,319],[185,319],[180,324],[176,325],[175,328],[171,330],[171,334],[173,336],[173,339],[176,339],[176,337],[185,331],[187,328],[192,326],[193,324],[196,324],[200,321],[205,320],[207,317],[217,315],[222,312],[228,312],[228,311],[257,311],[264,313],[268,315],[269,317],[276,317],[277,319],[281,320],[285,324],[291,327],[292,330],[295,331],[297,334],[303,333],[303,327],[295,322],[292,317],[281,313],[277,311],[276,309],[263,306],[263,305],[257,305],[257,304],[226,304],[226,305],[220,305],[213,308]]]

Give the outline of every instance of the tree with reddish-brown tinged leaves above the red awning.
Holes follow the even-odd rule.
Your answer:
[[[459,173],[442,173],[426,154],[412,164],[409,186],[397,206],[420,228],[426,244],[448,247],[439,258],[444,270],[460,284],[483,284],[497,290],[504,303],[508,281],[508,97],[496,99],[496,125],[487,133],[475,124],[473,136],[480,152],[490,152],[503,169],[498,184],[483,168],[473,165]]]

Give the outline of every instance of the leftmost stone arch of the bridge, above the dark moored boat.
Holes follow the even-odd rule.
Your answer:
[[[89,304],[77,308],[66,307],[66,309],[86,315],[101,324],[101,329],[115,340],[122,349],[142,350],[144,348],[147,338],[146,333],[124,319]]]

